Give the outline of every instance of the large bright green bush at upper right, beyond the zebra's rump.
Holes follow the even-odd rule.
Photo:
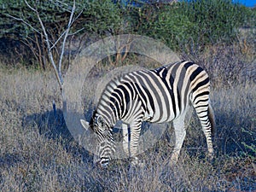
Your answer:
[[[253,9],[230,0],[146,4],[139,19],[141,34],[161,39],[172,49],[191,39],[201,48],[218,42],[232,44],[239,28],[255,26]]]

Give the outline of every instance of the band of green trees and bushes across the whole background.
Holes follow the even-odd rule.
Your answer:
[[[27,3],[38,8],[50,42],[55,42],[53,57],[58,58],[61,53],[58,39],[67,26],[73,1],[28,0]],[[23,60],[26,65],[47,68],[47,46],[35,12],[27,7],[24,0],[0,0],[0,4],[0,55],[5,60],[11,59],[9,62],[18,57],[15,62]],[[141,34],[160,39],[177,52],[188,47],[201,51],[209,44],[232,44],[241,26],[255,27],[256,23],[253,9],[231,0],[185,0],[175,3],[77,0],[74,15],[79,17],[70,28],[63,67],[68,67],[73,55],[80,49],[99,38],[125,33]],[[119,58],[120,55],[114,55],[108,59],[115,65]]]

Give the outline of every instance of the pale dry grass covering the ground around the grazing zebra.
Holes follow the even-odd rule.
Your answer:
[[[60,107],[52,73],[22,69],[0,72],[0,191],[254,191],[256,190],[256,84],[212,91],[217,119],[216,159],[204,157],[206,143],[196,119],[189,125],[177,166],[169,166],[166,137],[141,154],[145,168],[130,170],[113,160],[107,170],[73,141],[56,119]]]

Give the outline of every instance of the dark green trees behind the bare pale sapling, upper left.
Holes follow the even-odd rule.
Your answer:
[[[61,53],[60,38],[63,35],[63,29],[66,29],[70,9],[73,7],[73,1],[15,1],[1,0],[0,26],[3,30],[0,32],[0,42],[2,44],[2,53],[10,54],[9,49],[17,49],[15,54],[19,53],[20,59],[31,60],[32,64],[37,63],[41,68],[48,66],[47,44],[44,41],[44,32],[38,22],[38,15],[27,6],[27,3],[37,8],[38,14],[48,33],[49,41],[54,45],[51,49],[53,57],[56,60]],[[79,17],[70,28],[68,41],[71,43],[74,34],[79,37],[104,37],[106,34],[115,34],[122,30],[121,15],[119,15],[118,6],[111,1],[87,2],[76,1],[74,17]],[[84,40],[84,38],[82,38]],[[10,44],[11,43],[11,44]],[[30,55],[26,57],[26,55]],[[32,55],[32,56],[31,56]],[[67,55],[67,53],[66,53]]]

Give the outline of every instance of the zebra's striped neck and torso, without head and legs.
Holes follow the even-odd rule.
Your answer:
[[[98,108],[113,124],[118,119],[128,120],[128,115],[131,120],[131,108],[140,103],[143,120],[161,123],[185,112],[189,100],[200,108],[208,96],[207,73],[195,63],[182,61],[113,79],[102,93]]]

